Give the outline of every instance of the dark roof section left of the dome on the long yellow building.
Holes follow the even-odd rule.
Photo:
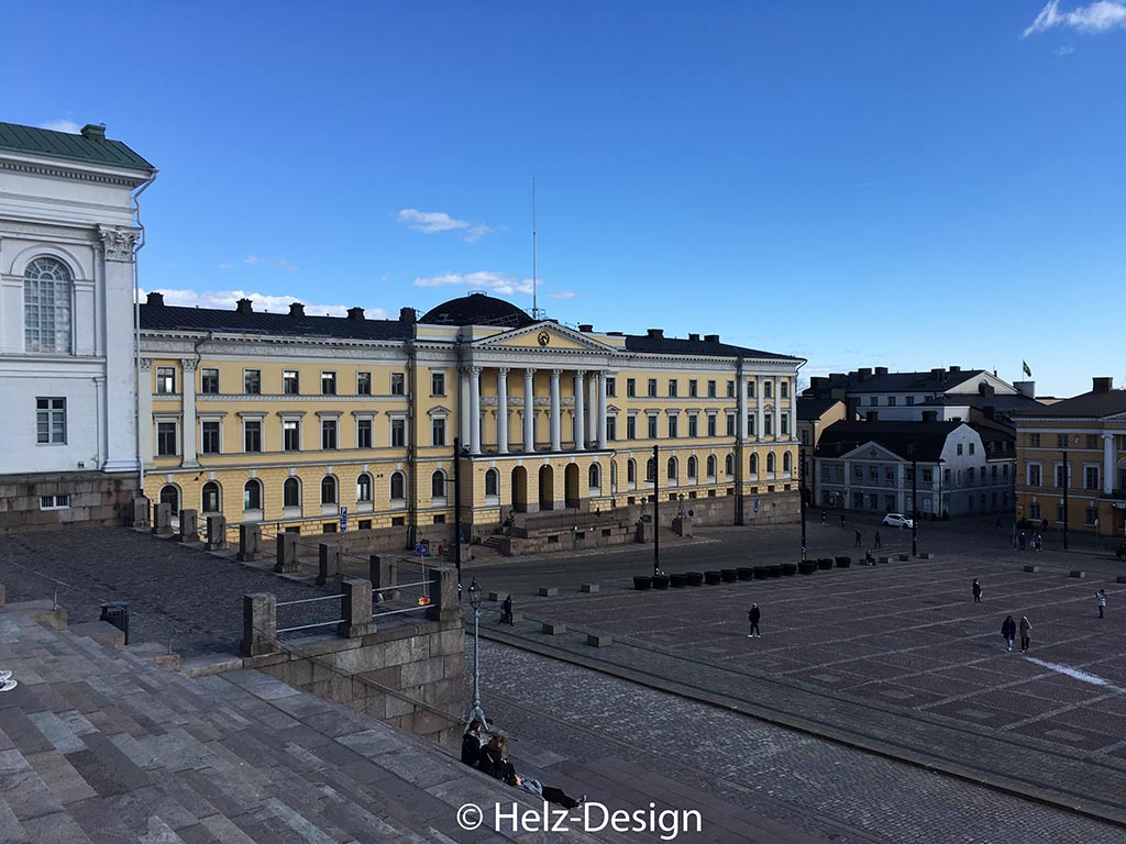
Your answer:
[[[141,329],[148,331],[217,331],[236,334],[332,338],[336,340],[409,340],[413,325],[397,320],[350,320],[346,316],[291,316],[239,313],[205,307],[142,305]]]

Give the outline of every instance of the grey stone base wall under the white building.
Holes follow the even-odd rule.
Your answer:
[[[72,524],[119,526],[131,512],[137,476],[101,472],[0,475],[0,533]],[[70,506],[42,510],[41,496],[70,495]]]

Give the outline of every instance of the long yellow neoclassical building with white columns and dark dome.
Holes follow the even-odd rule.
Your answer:
[[[804,362],[712,334],[575,330],[484,294],[397,320],[150,294],[143,486],[232,527],[401,529],[405,547],[452,537],[457,497],[464,538],[482,539],[512,512],[640,508],[654,474],[697,523],[785,520]]]

